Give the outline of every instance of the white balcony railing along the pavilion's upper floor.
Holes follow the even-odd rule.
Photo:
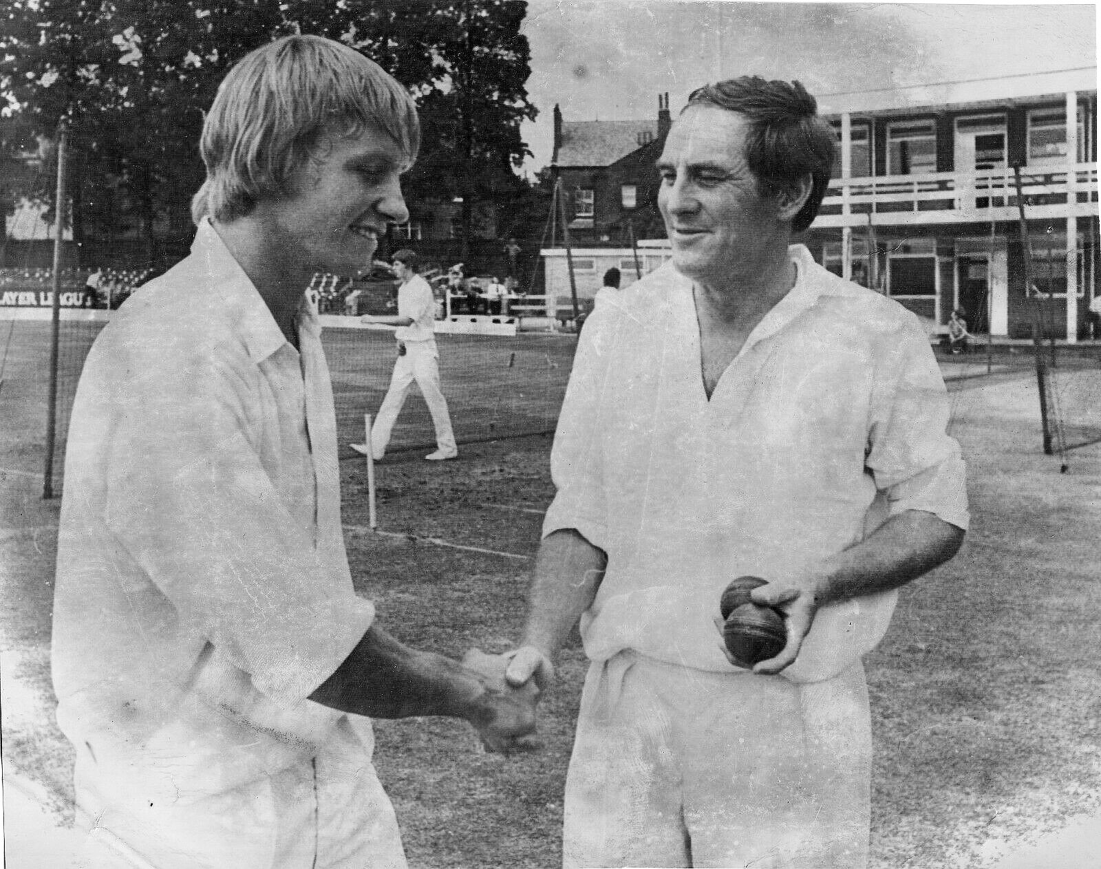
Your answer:
[[[1067,183],[1067,170],[1026,166],[1021,171],[1025,205],[1082,205],[1097,199],[1097,163],[1075,166],[1073,187]],[[1078,194],[1088,194],[1078,203]],[[848,194],[848,195],[846,195]],[[848,200],[850,216],[844,218]],[[973,219],[991,208],[1016,208],[1017,196],[1013,170],[1002,167],[989,172],[929,172],[920,175],[883,175],[864,178],[835,178],[822,200],[821,216],[836,222],[859,225],[869,213],[890,222],[892,215],[914,213],[958,213],[960,219]],[[1093,206],[1095,210],[1095,206]],[[907,218],[907,221],[912,218]]]

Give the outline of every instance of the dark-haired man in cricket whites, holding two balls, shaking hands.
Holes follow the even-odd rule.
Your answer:
[[[865,865],[860,659],[968,513],[917,318],[791,243],[832,160],[798,83],[694,93],[657,164],[673,261],[581,333],[504,656],[514,684],[546,685],[580,620],[567,867]],[[740,575],[786,611],[786,645],[752,671],[712,623]]]

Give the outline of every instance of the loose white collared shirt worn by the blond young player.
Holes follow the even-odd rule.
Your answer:
[[[318,750],[307,699],[373,619],[340,525],[316,313],[298,349],[204,221],[123,305],[73,410],[54,611],[58,721],[175,786],[226,790]],[[357,729],[370,739],[367,719]]]

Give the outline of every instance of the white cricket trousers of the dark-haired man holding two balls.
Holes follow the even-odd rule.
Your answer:
[[[612,662],[592,664],[581,696],[566,869],[866,866],[871,736],[859,662],[806,685],[634,652]]]

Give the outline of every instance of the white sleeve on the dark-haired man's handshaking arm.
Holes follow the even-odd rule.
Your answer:
[[[550,477],[556,493],[543,521],[543,536],[574,529],[598,548],[608,548],[602,425],[612,397],[610,360],[615,344],[615,317],[595,313],[578,339],[574,368],[550,450]]]

